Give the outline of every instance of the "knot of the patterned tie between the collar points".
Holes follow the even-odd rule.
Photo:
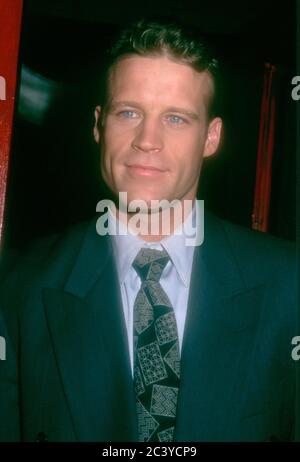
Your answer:
[[[158,282],[169,260],[170,257],[164,249],[142,248],[135,257],[132,266],[142,282],[150,280]]]

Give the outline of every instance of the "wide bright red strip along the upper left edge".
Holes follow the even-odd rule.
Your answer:
[[[16,91],[23,0],[0,0],[0,242]]]

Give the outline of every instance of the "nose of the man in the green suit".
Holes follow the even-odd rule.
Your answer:
[[[144,119],[137,127],[136,134],[132,140],[132,148],[135,151],[159,152],[163,148],[163,139],[159,122],[151,119]]]

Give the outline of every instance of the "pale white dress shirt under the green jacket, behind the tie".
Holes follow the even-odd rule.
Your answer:
[[[194,219],[195,206],[193,212],[188,216],[187,220]],[[116,226],[117,220],[119,230],[127,230],[124,223],[118,220],[114,213],[108,210],[108,229]],[[114,222],[114,225],[112,223]],[[163,238],[158,242],[146,242],[138,236],[130,234],[127,231],[126,235],[119,233],[112,236],[113,253],[116,261],[116,267],[119,277],[121,289],[123,310],[125,323],[128,335],[128,347],[131,362],[131,370],[133,375],[133,306],[137,293],[141,286],[141,280],[132,263],[137,256],[139,250],[151,248],[167,251],[170,261],[164,268],[160,284],[167,293],[172,306],[174,308],[178,337],[179,349],[181,352],[185,318],[187,312],[188,295],[194,255],[194,246],[187,246],[185,242],[184,227],[183,233],[180,235],[172,234]]]

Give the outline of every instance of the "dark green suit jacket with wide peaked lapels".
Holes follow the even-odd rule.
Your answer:
[[[137,441],[109,237],[95,221],[39,243],[2,278],[1,441]],[[177,441],[293,435],[293,247],[206,215],[181,354]]]

